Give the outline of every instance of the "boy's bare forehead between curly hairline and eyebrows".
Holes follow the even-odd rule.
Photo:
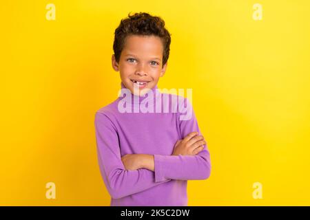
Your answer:
[[[123,47],[124,56],[132,54],[136,56],[162,56],[163,43],[158,36],[127,36]]]

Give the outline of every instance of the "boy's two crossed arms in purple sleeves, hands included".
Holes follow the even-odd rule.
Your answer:
[[[210,175],[211,163],[207,144],[198,148],[198,153],[192,151],[195,155],[188,155],[189,146],[192,145],[186,141],[182,144],[180,140],[175,145],[175,155],[132,154],[121,157],[116,128],[107,115],[96,113],[95,128],[101,175],[114,199],[142,192],[171,179],[207,179]],[[196,118],[180,122],[180,128],[183,136],[191,133],[190,131],[200,134]],[[200,141],[202,140],[196,143],[201,144]]]

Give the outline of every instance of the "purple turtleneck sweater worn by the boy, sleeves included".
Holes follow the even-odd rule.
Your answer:
[[[121,88],[126,89],[123,83]],[[152,91],[153,97],[122,93],[96,111],[96,147],[101,175],[111,196],[110,206],[187,206],[187,180],[209,178],[207,144],[197,155],[172,155],[177,140],[193,131],[202,135],[192,104],[183,96],[161,93],[157,85]],[[131,98],[131,108],[127,106],[130,102],[123,104],[125,97]],[[178,111],[172,111],[176,104],[173,98],[184,100]],[[163,111],[168,102],[169,111]],[[138,111],[139,103],[140,108],[154,112]],[[120,111],[124,106],[132,111]],[[186,111],[188,107],[191,114]],[[136,153],[154,155],[154,171],[125,170],[121,157]]]

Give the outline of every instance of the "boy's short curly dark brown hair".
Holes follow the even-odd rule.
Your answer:
[[[121,57],[125,39],[130,35],[159,36],[163,42],[163,65],[167,63],[172,34],[165,28],[165,21],[161,17],[154,17],[145,12],[133,15],[129,13],[126,19],[121,20],[114,35],[113,50],[117,63]]]

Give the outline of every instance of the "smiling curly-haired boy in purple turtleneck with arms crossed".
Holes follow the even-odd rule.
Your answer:
[[[115,30],[112,67],[120,72],[122,91],[129,92],[126,103],[120,96],[95,115],[110,206],[187,206],[187,180],[210,175],[207,144],[187,98],[168,94],[169,107],[175,107],[173,98],[187,101],[192,111],[187,120],[180,120],[183,107],[168,113],[161,108],[164,94],[157,83],[165,74],[171,42],[164,26],[160,17],[140,12],[128,14]],[[132,111],[121,110],[125,105]],[[135,111],[143,105],[161,111]]]

